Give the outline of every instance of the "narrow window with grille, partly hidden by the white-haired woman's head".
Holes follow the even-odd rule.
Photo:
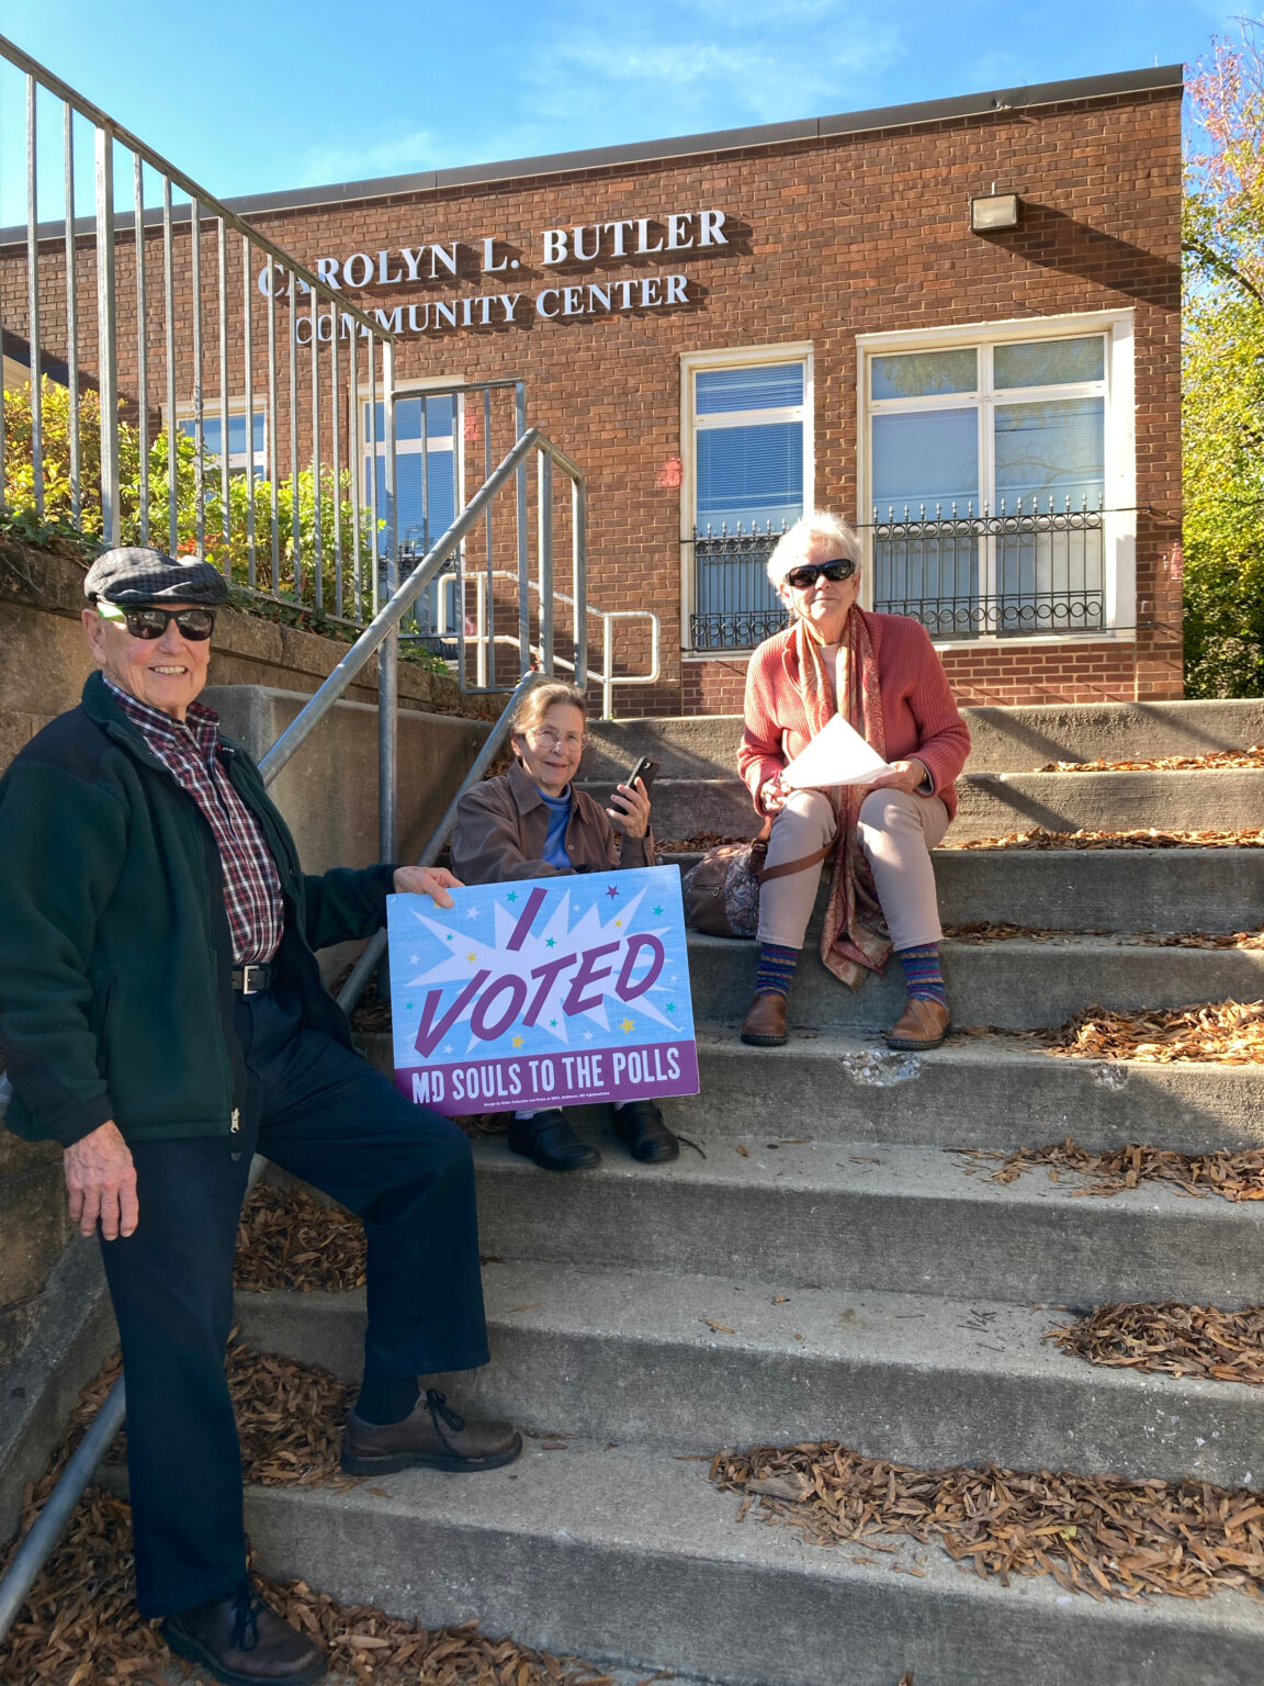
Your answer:
[[[809,497],[811,352],[691,354],[683,384],[686,637],[752,649],[785,620],[765,563]]]

